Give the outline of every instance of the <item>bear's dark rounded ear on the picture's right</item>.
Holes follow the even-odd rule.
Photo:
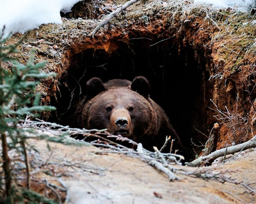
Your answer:
[[[149,81],[144,76],[136,76],[131,83],[131,90],[136,91],[146,99],[149,97]]]

